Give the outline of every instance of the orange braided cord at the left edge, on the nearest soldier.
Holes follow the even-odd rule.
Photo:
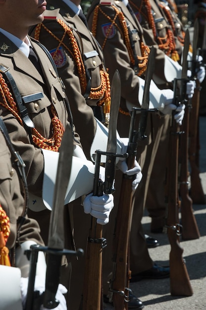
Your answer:
[[[6,212],[0,205],[0,265],[10,266],[8,257],[9,250],[6,247],[6,242],[10,235],[10,221]]]

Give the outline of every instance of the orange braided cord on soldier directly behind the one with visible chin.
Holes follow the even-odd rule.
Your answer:
[[[82,94],[86,92],[87,88],[87,78],[86,78],[86,72],[85,72],[85,66],[84,66],[84,61],[82,59],[81,52],[79,50],[78,44],[76,42],[76,39],[74,37],[72,29],[61,19],[56,19],[56,22],[63,28],[64,33],[61,39],[57,38],[43,23],[38,24],[36,29],[35,29],[35,39],[39,40],[40,37],[40,31],[41,27],[43,27],[56,41],[59,42],[55,53],[52,55],[52,58],[55,59],[55,55],[58,52],[58,49],[62,45],[66,51],[68,51],[76,66],[77,66],[77,71],[80,79],[80,86],[81,86],[81,91]],[[68,35],[72,51],[63,43],[63,40],[65,36]],[[101,83],[97,88],[91,87],[91,91],[89,94],[89,99],[101,99],[97,105],[103,105],[103,112],[104,113],[109,113],[110,111],[110,82],[109,82],[109,77],[108,73],[103,70],[103,68],[100,70],[100,78],[101,78]]]

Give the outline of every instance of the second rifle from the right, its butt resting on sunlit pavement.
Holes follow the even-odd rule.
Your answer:
[[[189,31],[186,31],[185,42],[189,43]],[[189,196],[188,190],[188,137],[189,137],[189,119],[191,104],[185,100],[185,114],[182,121],[181,130],[184,133],[180,135],[179,152],[179,193],[181,197],[181,220],[182,220],[182,239],[192,240],[200,238],[200,232],[193,214],[193,201]]]

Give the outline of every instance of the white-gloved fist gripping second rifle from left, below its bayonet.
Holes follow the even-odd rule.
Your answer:
[[[105,225],[109,221],[109,214],[114,207],[114,198],[112,194],[103,196],[93,196],[89,194],[83,202],[84,211],[87,214],[97,218],[97,223]]]

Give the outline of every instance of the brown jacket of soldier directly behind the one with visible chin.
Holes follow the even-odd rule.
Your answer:
[[[76,131],[80,135],[83,150],[90,159],[90,147],[96,132],[96,120],[90,106],[96,106],[100,99],[88,98],[88,92],[90,93],[91,88],[96,89],[101,84],[100,70],[105,69],[103,52],[84,22],[63,1],[49,0],[47,8],[48,10],[44,13],[44,25],[51,31],[51,34],[41,27],[38,40],[47,47],[52,56],[57,52],[54,61],[66,87],[65,92],[69,98]],[[69,26],[84,59],[90,79],[87,88],[91,83],[89,90],[86,91],[87,94],[82,89],[81,76],[77,70],[73,39],[66,34],[60,43],[64,29],[57,23],[57,19]],[[34,31],[32,36],[34,36]]]

